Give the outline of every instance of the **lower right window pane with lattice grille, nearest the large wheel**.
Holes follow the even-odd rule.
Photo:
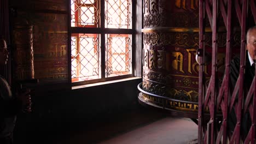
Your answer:
[[[131,74],[131,34],[106,34],[106,77]]]

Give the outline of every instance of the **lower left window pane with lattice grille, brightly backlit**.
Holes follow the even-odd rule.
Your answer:
[[[101,78],[98,34],[72,34],[72,82]]]

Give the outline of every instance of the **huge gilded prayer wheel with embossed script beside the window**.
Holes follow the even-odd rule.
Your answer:
[[[140,103],[194,113],[197,117],[199,64],[195,56],[199,47],[198,2],[144,1],[143,82],[138,85],[141,91],[138,97]],[[218,47],[225,47],[226,38],[222,37],[222,32],[218,38]],[[206,49],[211,53],[209,22],[205,41]],[[218,54],[220,71],[223,68],[224,56],[224,53]],[[205,66],[206,81],[211,75],[210,68],[211,64]]]

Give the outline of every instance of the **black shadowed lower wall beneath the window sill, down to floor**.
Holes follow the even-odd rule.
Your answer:
[[[18,116],[15,140],[34,143],[79,130],[82,125],[108,122],[120,113],[137,110],[137,85],[141,79],[79,89],[38,89],[33,111]],[[86,129],[86,127],[85,127]]]

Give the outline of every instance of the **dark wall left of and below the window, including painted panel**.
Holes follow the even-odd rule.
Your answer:
[[[32,113],[18,117],[15,137],[19,142],[27,142],[39,133],[47,136],[51,135],[50,131],[104,121],[136,109],[140,78],[71,89],[67,63],[67,0],[9,0],[9,9],[11,26],[24,20],[33,26],[34,76],[39,79],[32,94]]]

